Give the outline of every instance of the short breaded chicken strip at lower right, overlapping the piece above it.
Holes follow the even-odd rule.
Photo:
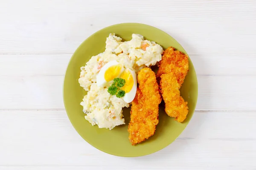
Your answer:
[[[160,91],[165,102],[165,111],[175,117],[178,122],[183,122],[189,112],[187,102],[180,96],[180,85],[174,74],[162,74],[160,80]]]

